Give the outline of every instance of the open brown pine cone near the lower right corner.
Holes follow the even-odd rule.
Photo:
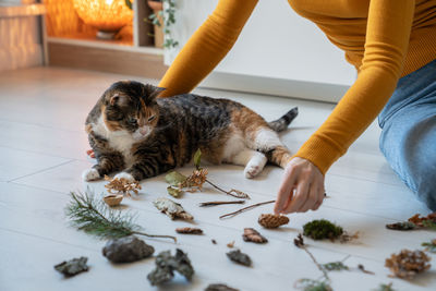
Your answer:
[[[399,254],[390,255],[386,258],[385,266],[388,267],[396,277],[412,279],[416,274],[429,269],[431,258],[421,251],[402,250]]]

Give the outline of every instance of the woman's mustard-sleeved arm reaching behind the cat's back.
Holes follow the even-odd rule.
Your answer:
[[[237,41],[257,0],[220,0],[214,13],[192,35],[160,81],[159,96],[191,92]]]

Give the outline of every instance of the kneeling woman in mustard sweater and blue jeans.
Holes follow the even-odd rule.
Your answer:
[[[220,0],[159,86],[192,90],[227,54],[257,0]],[[289,0],[344,50],[358,78],[289,161],[276,213],[316,210],[324,175],[379,114],[380,149],[397,174],[436,210],[436,0]],[[398,85],[397,85],[398,83]]]

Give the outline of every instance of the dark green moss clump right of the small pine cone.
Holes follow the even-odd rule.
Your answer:
[[[303,226],[303,234],[314,240],[335,240],[343,233],[343,229],[326,219],[313,220]]]

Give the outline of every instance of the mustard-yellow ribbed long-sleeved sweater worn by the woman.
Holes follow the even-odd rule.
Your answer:
[[[220,0],[171,64],[162,97],[192,90],[235,43],[257,0]],[[344,50],[358,78],[295,156],[325,173],[363,133],[399,77],[436,59],[436,0],[289,0]],[[295,44],[298,46],[298,44]]]

